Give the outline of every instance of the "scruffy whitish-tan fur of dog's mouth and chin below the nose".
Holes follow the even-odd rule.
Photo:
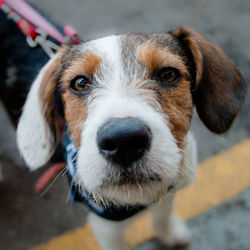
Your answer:
[[[149,205],[166,195],[166,190],[175,184],[167,185],[158,174],[145,166],[145,163],[133,164],[129,169],[120,169],[120,166],[109,164],[108,174],[103,183],[92,192],[92,197],[99,204],[106,206],[110,202],[120,206],[125,204]],[[129,172],[129,173],[128,173]],[[89,191],[81,185],[76,176],[76,183],[83,191]],[[170,187],[170,188],[169,188]]]

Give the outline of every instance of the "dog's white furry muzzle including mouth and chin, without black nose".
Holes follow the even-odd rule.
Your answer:
[[[77,180],[89,192],[119,204],[150,204],[156,201],[164,190],[167,192],[168,186],[175,185],[181,161],[181,150],[165,125],[166,120],[137,98],[120,99],[116,94],[116,97],[102,97],[99,102],[100,106],[98,102],[90,105],[90,114],[84,123]],[[142,160],[127,169],[107,162],[96,145],[96,133],[103,121],[124,113],[143,119],[152,130],[151,148]]]

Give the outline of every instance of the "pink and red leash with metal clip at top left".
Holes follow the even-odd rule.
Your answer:
[[[31,48],[41,46],[50,58],[54,56],[60,44],[81,43],[78,32],[72,26],[64,26],[64,35],[62,35],[54,25],[24,0],[0,0],[0,9],[16,23]],[[49,36],[57,43],[51,41]]]

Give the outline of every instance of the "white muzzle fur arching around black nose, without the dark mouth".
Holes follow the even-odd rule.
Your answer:
[[[85,188],[88,191],[98,193],[101,191],[100,186],[106,178],[108,163],[99,153],[97,147],[96,134],[98,129],[110,117],[127,116],[137,117],[149,125],[152,131],[152,142],[150,152],[147,154],[146,165],[159,176],[164,177],[165,185],[172,184],[178,174],[181,156],[175,139],[166,126],[165,119],[139,98],[105,96],[104,100],[100,99],[99,101],[99,105],[93,103],[94,107],[91,105],[89,109],[89,112],[94,115],[89,115],[84,123],[78,155],[78,178]],[[119,189],[111,187],[110,190],[105,192],[105,195],[110,198],[117,198],[117,192],[119,192]],[[146,192],[145,189],[144,192]],[[127,194],[121,192],[119,197],[123,195],[126,196]],[[133,195],[136,198],[130,197],[131,200],[148,200],[148,197],[141,193],[134,192]],[[126,201],[126,199],[126,197],[122,198],[123,201]],[[151,199],[155,199],[155,193],[152,193]],[[144,202],[146,201],[144,200]]]

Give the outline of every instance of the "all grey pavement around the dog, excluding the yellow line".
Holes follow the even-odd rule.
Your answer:
[[[249,0],[31,2],[58,23],[73,25],[86,40],[113,33],[164,31],[187,23],[219,45],[250,79]],[[250,91],[240,116],[225,136],[212,135],[195,117],[193,131],[199,143],[200,160],[249,137],[249,110]],[[65,178],[60,178],[43,197],[33,194],[33,185],[42,171],[24,171],[14,145],[14,131],[0,107],[0,157],[4,172],[0,183],[1,250],[30,248],[82,226],[85,221],[82,206],[68,206],[65,202]],[[250,216],[249,199],[248,190],[236,200],[190,221],[194,240],[188,249],[250,249],[250,225],[246,219]],[[151,242],[140,250],[160,247]]]

